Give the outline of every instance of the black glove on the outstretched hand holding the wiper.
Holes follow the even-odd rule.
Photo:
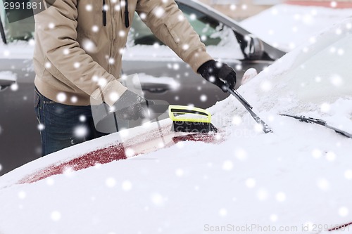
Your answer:
[[[225,63],[209,60],[203,63],[197,72],[208,82],[220,87],[224,92],[227,92],[226,87],[233,90],[236,85],[236,72]]]

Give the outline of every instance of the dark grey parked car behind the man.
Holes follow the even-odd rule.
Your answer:
[[[238,77],[250,67],[260,72],[284,55],[283,51],[266,44],[234,20],[206,5],[189,0],[178,0],[177,4],[199,33],[209,53],[234,67]],[[21,11],[11,11],[10,14],[21,14]],[[4,16],[4,8],[0,15],[4,26],[4,30],[0,30],[6,44],[0,45],[0,74],[9,73],[8,76],[0,75],[1,175],[36,159],[41,155],[41,149],[32,105],[34,20],[30,17],[9,23]],[[205,82],[175,53],[163,46],[137,14],[122,63],[123,73],[139,74],[146,98],[208,108],[227,97],[226,93]],[[177,84],[178,89],[174,89],[173,84]],[[12,89],[6,89],[8,87]]]

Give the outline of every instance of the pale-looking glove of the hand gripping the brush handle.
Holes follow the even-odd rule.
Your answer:
[[[137,93],[127,89],[114,104],[115,113],[119,119],[137,120],[149,117],[148,107],[152,100],[146,100]]]

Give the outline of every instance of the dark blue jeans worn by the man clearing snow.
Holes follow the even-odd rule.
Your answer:
[[[107,135],[96,131],[90,105],[56,103],[35,89],[34,110],[42,138],[42,156]]]

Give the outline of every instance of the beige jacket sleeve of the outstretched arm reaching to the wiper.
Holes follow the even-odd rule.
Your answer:
[[[174,0],[139,0],[136,11],[151,32],[188,63],[194,72],[213,59],[206,53],[206,46]]]

